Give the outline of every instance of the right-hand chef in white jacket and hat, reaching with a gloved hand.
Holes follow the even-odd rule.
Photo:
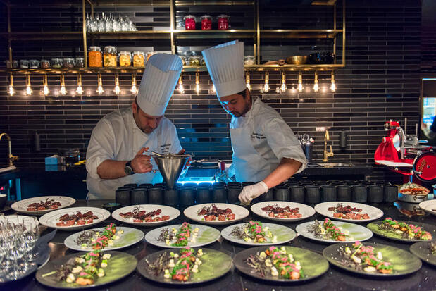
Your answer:
[[[254,99],[244,79],[244,43],[226,42],[202,51],[218,101],[232,115],[232,166],[229,176],[246,186],[239,200],[247,204],[306,168],[297,137],[285,120],[261,99]],[[259,181],[259,182],[258,182]]]

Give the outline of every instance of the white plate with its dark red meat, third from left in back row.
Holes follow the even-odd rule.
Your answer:
[[[117,221],[138,226],[157,226],[173,221],[180,216],[177,209],[157,204],[141,204],[125,206],[112,212]]]

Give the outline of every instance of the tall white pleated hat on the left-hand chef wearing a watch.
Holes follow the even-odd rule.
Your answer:
[[[182,60],[174,54],[154,54],[149,58],[137,95],[142,111],[149,116],[163,116],[182,68]]]

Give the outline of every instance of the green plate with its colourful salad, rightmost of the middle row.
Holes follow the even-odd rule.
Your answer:
[[[432,240],[436,235],[436,226],[415,221],[396,221],[387,217],[383,221],[374,221],[366,225],[376,235],[401,242],[422,242]]]

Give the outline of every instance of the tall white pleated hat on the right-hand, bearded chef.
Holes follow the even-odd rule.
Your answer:
[[[225,42],[201,53],[218,97],[244,91],[244,42]]]

